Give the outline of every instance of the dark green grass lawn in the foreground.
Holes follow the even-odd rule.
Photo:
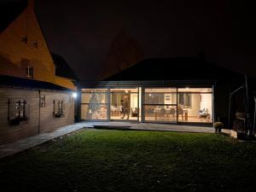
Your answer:
[[[253,191],[256,143],[221,134],[80,131],[0,160],[0,191]]]

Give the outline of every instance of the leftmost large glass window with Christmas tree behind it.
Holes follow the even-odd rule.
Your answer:
[[[83,89],[81,119],[108,119],[108,90]]]

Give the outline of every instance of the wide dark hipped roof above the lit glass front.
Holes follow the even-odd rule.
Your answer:
[[[218,67],[200,57],[171,57],[143,60],[105,80],[189,80],[231,77],[242,77],[242,75]]]

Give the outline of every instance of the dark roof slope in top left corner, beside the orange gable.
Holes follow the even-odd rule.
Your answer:
[[[0,3],[0,33],[3,32],[26,9],[26,0]]]

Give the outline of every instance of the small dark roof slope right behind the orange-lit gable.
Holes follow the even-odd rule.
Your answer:
[[[72,68],[69,67],[67,61],[61,55],[56,55],[51,53],[52,59],[55,61],[55,75],[62,78],[78,80],[76,74],[73,72]]]

